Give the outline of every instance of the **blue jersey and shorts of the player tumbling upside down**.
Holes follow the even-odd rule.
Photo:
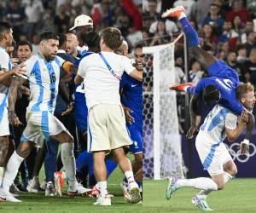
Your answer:
[[[195,95],[202,95],[203,89],[208,85],[214,85],[221,95],[218,103],[241,115],[243,107],[236,99],[236,88],[240,84],[236,70],[221,60],[215,61],[207,70],[210,78],[202,78],[195,88],[189,88],[188,91]]]

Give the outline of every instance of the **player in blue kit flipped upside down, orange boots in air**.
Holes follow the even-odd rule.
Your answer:
[[[214,85],[216,89],[212,89],[212,91],[208,89],[211,100],[205,99],[207,105],[218,102],[221,106],[230,109],[230,111],[235,112],[237,115],[241,115],[244,107],[242,107],[242,104],[236,99],[236,89],[240,85],[236,70],[228,66],[223,60],[218,60],[207,53],[207,51],[201,49],[199,46],[200,42],[198,35],[195,32],[195,29],[190,25],[183,7],[169,9],[162,16],[175,17],[180,21],[183,27],[183,32],[188,40],[189,48],[195,54],[195,58],[199,60],[205,68],[207,68],[207,72],[209,74],[209,78],[201,79],[196,87],[193,87],[192,83],[183,83],[170,86],[170,89],[172,90],[187,91],[193,94],[190,102],[190,116],[192,124],[188,131],[189,138],[193,137],[195,132],[198,130],[198,125],[201,122],[200,119],[195,119],[196,115],[200,114],[198,111],[195,111],[195,108],[198,107],[200,103],[200,97],[203,95],[203,89],[205,89],[208,85]],[[220,95],[218,95],[217,89],[220,92]],[[252,109],[248,110],[251,111]],[[254,121],[255,119],[253,114],[248,113],[246,136],[245,140],[242,142],[242,153],[246,152],[245,147],[247,147],[247,143],[252,135]]]

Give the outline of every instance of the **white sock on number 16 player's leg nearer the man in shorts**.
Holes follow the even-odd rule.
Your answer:
[[[75,158],[73,155],[73,143],[61,144],[61,160],[65,170],[68,185],[73,190],[76,187]]]

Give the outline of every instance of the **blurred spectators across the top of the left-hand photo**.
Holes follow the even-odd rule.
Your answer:
[[[67,32],[79,14],[90,15],[96,31],[118,27],[131,48],[142,40],[142,0],[0,1],[0,21],[12,24],[16,42],[28,40],[33,46],[41,32]]]

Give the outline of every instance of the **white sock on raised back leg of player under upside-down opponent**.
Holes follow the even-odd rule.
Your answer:
[[[199,189],[211,189],[217,191],[217,184],[208,177],[199,177],[195,179],[179,179],[176,182],[177,187],[195,187]]]

